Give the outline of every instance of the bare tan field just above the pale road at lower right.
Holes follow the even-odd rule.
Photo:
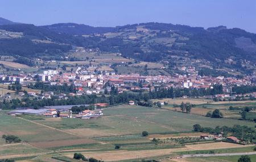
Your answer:
[[[248,147],[248,145],[242,146],[241,144],[235,144],[235,143],[215,142],[215,143],[191,144],[191,145],[186,145],[186,147],[192,150],[205,150],[205,149]]]

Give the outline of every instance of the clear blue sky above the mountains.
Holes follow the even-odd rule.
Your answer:
[[[256,33],[255,0],[0,0],[0,17],[38,26],[162,22],[242,28]]]

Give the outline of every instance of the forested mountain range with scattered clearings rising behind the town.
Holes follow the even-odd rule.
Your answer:
[[[170,23],[140,23],[117,27],[92,27],[59,23],[49,26],[10,24],[1,19],[1,30],[22,32],[22,38],[0,37],[0,55],[59,58],[72,47],[99,48],[122,53],[142,61],[171,61],[171,56],[204,59],[210,63],[241,65],[247,59],[256,63],[256,34],[225,26],[190,27]],[[11,34],[15,35],[15,34]],[[86,35],[86,36],[85,36]],[[19,39],[17,39],[19,38]],[[241,66],[240,66],[241,67]]]

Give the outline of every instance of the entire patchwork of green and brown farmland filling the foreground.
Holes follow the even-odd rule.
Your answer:
[[[205,152],[212,149],[220,152],[250,152],[253,150],[254,146],[245,147],[232,143],[181,145],[155,144],[151,141],[152,138],[199,136],[200,133],[191,132],[195,123],[200,123],[203,127],[233,126],[233,124],[254,127],[254,123],[251,122],[212,119],[142,106],[121,106],[105,109],[103,117],[91,120],[75,118],[35,119],[32,115],[11,117],[0,113],[0,135],[12,134],[25,141],[5,147],[6,144],[1,139],[0,157],[3,155],[5,155],[4,157],[15,158],[26,156],[32,158],[28,161],[33,162],[60,162],[61,160],[58,161],[51,157],[72,159],[73,153],[81,152],[86,157],[105,161],[132,161],[129,159],[157,159],[183,153]],[[144,130],[148,131],[150,136],[141,136],[141,132]],[[119,145],[121,148],[117,150],[114,148],[115,145]]]

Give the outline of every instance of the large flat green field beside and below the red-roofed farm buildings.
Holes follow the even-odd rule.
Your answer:
[[[93,130],[106,130],[117,135],[141,134],[144,130],[151,134],[187,132],[192,131],[193,124],[196,123],[200,123],[203,127],[232,127],[234,124],[254,127],[255,125],[253,122],[226,118],[207,118],[194,114],[142,106],[123,106],[117,109],[105,109],[102,118],[93,120],[61,119],[55,122],[38,122],[61,129],[92,128]]]

